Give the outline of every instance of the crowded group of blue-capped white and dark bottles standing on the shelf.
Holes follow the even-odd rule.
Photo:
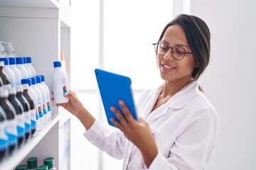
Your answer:
[[[14,64],[18,71],[14,74],[10,61],[23,62],[23,57],[0,58],[0,159],[14,153],[36,130],[43,130],[51,117],[50,90],[45,77],[28,74],[16,81],[16,73],[26,69],[21,71]],[[9,77],[15,83],[11,84]]]

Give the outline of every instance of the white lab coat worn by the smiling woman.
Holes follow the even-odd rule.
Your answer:
[[[194,81],[151,112],[162,89],[144,91],[137,103],[137,113],[149,123],[159,150],[148,169],[206,169],[218,134],[215,108]],[[139,149],[117,128],[96,120],[84,135],[110,156],[124,158],[123,169],[147,169]]]

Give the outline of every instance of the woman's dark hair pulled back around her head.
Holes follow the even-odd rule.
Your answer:
[[[173,25],[181,26],[186,33],[195,61],[192,78],[196,80],[203,74],[210,60],[210,30],[201,18],[180,14],[164,27],[159,42],[163,38],[166,29]]]

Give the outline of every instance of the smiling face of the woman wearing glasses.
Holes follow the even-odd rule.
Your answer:
[[[181,46],[186,52],[191,52],[183,28],[179,25],[169,26],[161,42],[169,47]],[[165,81],[191,81],[195,62],[193,54],[186,54],[182,60],[175,60],[169,49],[165,55],[157,55],[161,78]]]

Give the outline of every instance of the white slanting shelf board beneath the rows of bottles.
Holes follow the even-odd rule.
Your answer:
[[[41,131],[36,131],[34,135],[28,140],[21,148],[18,148],[16,152],[11,154],[9,157],[4,158],[0,162],[0,169],[11,170],[26,157],[29,152],[33,150],[36,145],[43,139],[43,137],[53,128],[53,126],[58,123],[59,116],[53,115],[50,122]]]

